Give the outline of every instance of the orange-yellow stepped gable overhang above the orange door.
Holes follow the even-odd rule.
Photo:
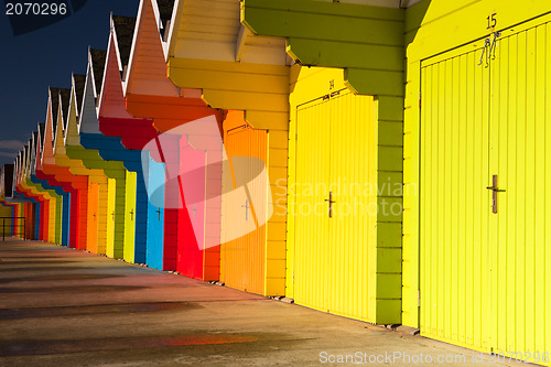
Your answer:
[[[241,4],[176,1],[168,75],[184,90],[202,89],[213,108],[244,110],[256,129],[288,130],[292,61],[285,40],[253,34],[241,23]]]

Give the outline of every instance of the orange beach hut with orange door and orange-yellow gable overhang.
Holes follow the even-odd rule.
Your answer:
[[[223,121],[223,175],[242,180],[223,179],[220,281],[284,295],[287,208],[274,205],[272,192],[288,174],[292,61],[283,40],[252,34],[239,14],[239,1],[175,2],[162,24],[168,75],[184,91],[201,90],[209,107],[235,111]]]

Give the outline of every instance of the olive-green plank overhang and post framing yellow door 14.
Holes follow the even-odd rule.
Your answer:
[[[404,19],[403,9],[363,4],[311,0],[241,2],[241,21],[253,34],[284,37],[287,51],[298,64],[341,68],[343,76],[335,77],[335,84],[344,79],[344,85],[354,94],[375,97],[377,120],[369,133],[367,149],[370,156],[377,158],[369,176],[369,182],[377,187],[387,177],[399,177],[398,184],[401,182]],[[291,77],[291,100],[295,96],[293,90],[301,85],[298,76],[299,72]],[[328,88],[329,85],[318,85],[306,93]],[[316,97],[320,96],[311,96],[311,99]],[[309,98],[299,95],[294,99],[309,101]],[[298,105],[292,106],[291,116],[294,116]],[[290,140],[290,144],[289,172],[290,179],[294,180],[294,139]],[[382,201],[388,202],[382,191],[378,191],[377,195],[378,205]],[[401,202],[401,197],[392,199]],[[386,261],[382,253],[390,253],[390,248],[395,255],[400,252],[401,214],[389,219],[382,212],[378,211],[374,217],[376,230],[369,236],[368,244],[368,289],[374,292],[368,319],[376,323],[399,323],[401,296],[397,294],[401,287],[396,277],[401,277],[400,259],[391,256],[391,260]],[[293,224],[288,224],[288,244],[292,244],[295,228]],[[288,251],[288,279],[292,267],[293,253]],[[292,296],[290,282],[288,291]]]

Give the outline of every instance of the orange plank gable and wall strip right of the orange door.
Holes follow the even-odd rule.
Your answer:
[[[248,32],[235,0],[179,2],[173,20],[166,55],[170,79],[184,90],[201,89],[213,108],[244,111],[251,128],[269,134],[270,184],[287,180],[290,68],[284,40]],[[285,292],[285,253],[271,250],[284,247],[285,226],[287,217],[281,215],[273,215],[266,225],[266,276],[258,293]]]

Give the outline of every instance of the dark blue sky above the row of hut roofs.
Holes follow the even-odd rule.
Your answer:
[[[0,164],[12,163],[39,122],[44,122],[47,88],[71,87],[71,73],[85,74],[88,45],[107,47],[109,12],[136,17],[139,0],[88,0],[71,17],[14,36],[1,3]]]

